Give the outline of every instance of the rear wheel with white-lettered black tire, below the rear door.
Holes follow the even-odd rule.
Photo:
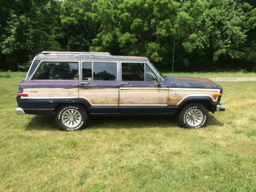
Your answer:
[[[55,115],[57,126],[64,131],[81,130],[88,124],[88,120],[87,111],[79,104],[64,104]]]

